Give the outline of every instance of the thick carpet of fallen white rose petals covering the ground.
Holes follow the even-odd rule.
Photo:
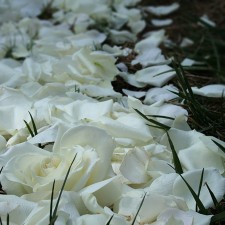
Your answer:
[[[214,141],[192,130],[187,111],[168,103],[175,76],[159,45],[166,39],[161,15],[179,4],[138,7],[139,0],[0,1],[0,217],[6,224],[46,225],[53,182],[53,207],[69,167],[57,211],[57,225],[208,225],[211,215],[195,211],[195,201],[173,169],[171,138],[183,178],[206,208],[225,193],[225,154]],[[52,16],[45,20],[44,13]],[[137,35],[155,16],[158,30]],[[136,42],[133,49],[121,47]],[[106,44],[106,43],[111,43]],[[124,45],[123,45],[124,46]],[[134,74],[117,58],[142,69]],[[113,89],[121,76],[147,92]],[[220,97],[224,86],[193,88]],[[140,101],[138,98],[144,98]],[[139,113],[158,115],[149,126]],[[32,118],[37,134],[31,135]],[[166,117],[171,117],[168,119]],[[34,131],[34,130],[33,130]],[[75,158],[73,164],[72,160]],[[141,205],[141,208],[140,208]],[[140,210],[139,210],[140,208]],[[137,215],[136,215],[137,214]]]

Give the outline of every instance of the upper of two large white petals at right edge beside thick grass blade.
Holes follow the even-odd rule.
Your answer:
[[[211,141],[210,137],[195,130],[182,131],[171,128],[168,133],[181,164],[186,170],[214,167],[219,169],[221,174],[224,172],[224,156],[221,155],[218,146]],[[166,135],[162,137],[160,143],[170,149]]]

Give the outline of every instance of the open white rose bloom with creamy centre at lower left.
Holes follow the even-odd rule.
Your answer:
[[[61,189],[68,168],[76,155],[65,190],[78,191],[85,186],[106,179],[111,171],[114,142],[105,131],[89,127],[74,127],[56,140],[54,151],[49,152],[29,143],[10,148],[0,156],[4,167],[0,179],[3,190],[18,196]],[[29,195],[31,194],[31,195]]]

